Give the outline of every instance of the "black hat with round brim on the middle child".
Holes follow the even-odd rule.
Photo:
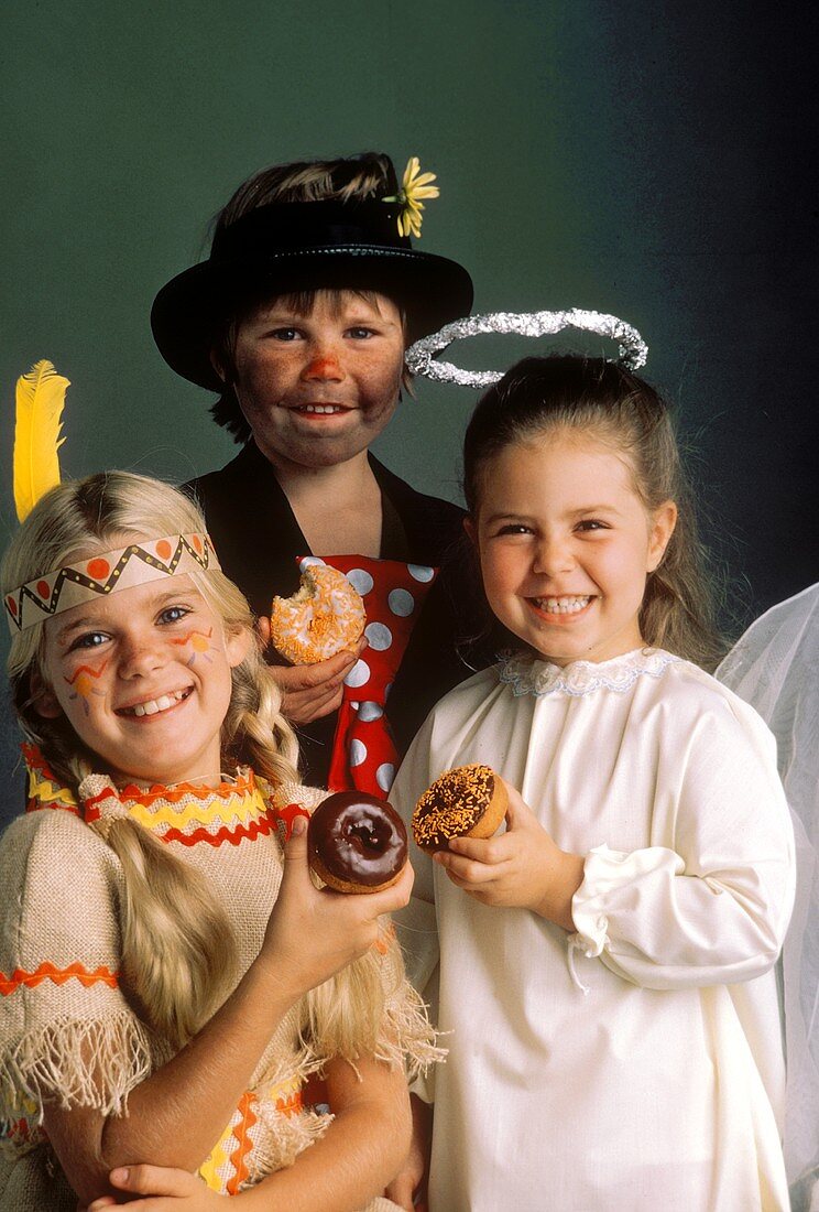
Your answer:
[[[217,230],[207,261],[162,287],[150,313],[165,361],[212,391],[211,350],[248,301],[291,291],[373,290],[406,311],[407,341],[468,315],[463,265],[418,252],[399,234],[400,202],[270,202]]]

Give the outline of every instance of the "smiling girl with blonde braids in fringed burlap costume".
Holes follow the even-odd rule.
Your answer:
[[[181,493],[61,485],[2,584],[34,811],[0,846],[0,1208],[118,1189],[151,1210],[363,1207],[406,1154],[401,1062],[433,1052],[379,926],[409,870],[367,897],[313,886],[322,793],[298,783],[247,604]],[[300,1105],[314,1071],[334,1119]]]

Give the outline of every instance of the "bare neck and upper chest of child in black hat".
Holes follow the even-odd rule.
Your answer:
[[[382,497],[366,451],[333,467],[275,468],[314,555],[378,558]]]

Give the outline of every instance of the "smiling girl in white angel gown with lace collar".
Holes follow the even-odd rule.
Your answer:
[[[433,710],[391,800],[409,819],[486,762],[510,806],[489,840],[413,848],[397,917],[452,1031],[430,1212],[784,1212],[791,824],[768,730],[703,670],[668,411],[618,365],[527,359],[479,404],[464,475],[515,651]]]

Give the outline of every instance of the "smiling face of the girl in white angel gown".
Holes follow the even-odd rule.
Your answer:
[[[506,446],[486,464],[468,530],[492,611],[565,665],[643,644],[646,577],[675,521],[672,502],[648,515],[617,451],[559,433]]]

